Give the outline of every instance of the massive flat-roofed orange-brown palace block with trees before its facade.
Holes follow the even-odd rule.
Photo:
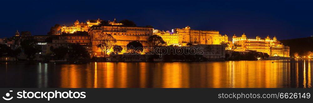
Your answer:
[[[97,37],[100,33],[111,34],[116,39],[116,45],[125,48],[126,45],[131,41],[139,41],[144,47],[147,46],[147,40],[149,36],[153,35],[152,27],[138,27],[138,26],[122,26],[122,25],[111,25],[111,26],[99,26],[94,25],[89,29],[89,35],[91,37],[92,51],[95,55],[100,55],[101,50],[97,48]],[[112,51],[112,49],[110,50]],[[110,51],[108,53],[110,53]],[[120,53],[125,53],[126,49]]]

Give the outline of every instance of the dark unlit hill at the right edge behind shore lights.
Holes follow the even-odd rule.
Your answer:
[[[313,51],[313,37],[280,40],[280,42],[290,47],[290,56],[296,52],[303,55],[308,51]]]

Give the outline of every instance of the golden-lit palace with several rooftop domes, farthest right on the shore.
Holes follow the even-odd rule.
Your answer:
[[[238,45],[234,51],[256,50],[270,56],[289,57],[290,48],[280,43],[275,36],[273,39],[270,39],[269,36],[265,39],[261,39],[259,36],[256,39],[247,39],[245,34],[242,34],[241,37],[234,35],[233,45]]]

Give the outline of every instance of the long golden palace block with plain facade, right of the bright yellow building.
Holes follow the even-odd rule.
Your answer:
[[[214,30],[193,30],[189,26],[185,28],[175,28],[172,32],[179,36],[179,44],[220,44],[228,42],[228,36],[219,34],[219,31]]]

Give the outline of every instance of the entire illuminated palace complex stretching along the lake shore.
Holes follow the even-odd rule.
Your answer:
[[[198,45],[209,50],[204,50],[204,55],[212,59],[223,59],[225,54],[231,51],[245,52],[247,50],[256,50],[258,52],[267,53],[270,56],[289,57],[289,47],[284,46],[274,36],[261,38],[257,36],[254,39],[247,38],[246,34],[233,35],[232,41],[228,40],[226,34],[222,35],[219,31],[214,30],[194,30],[192,27],[174,28],[171,31],[161,31],[154,29],[151,26],[123,26],[122,23],[117,23],[115,19],[109,21],[110,26],[100,26],[102,20],[87,20],[86,23],[76,20],[74,25],[63,25],[60,29],[62,33],[55,35],[20,35],[18,31],[12,38],[0,39],[0,44],[7,44],[11,48],[17,48],[23,39],[35,39],[42,45],[41,55],[50,55],[49,48],[58,48],[61,46],[69,46],[69,44],[78,43],[85,47],[85,49],[93,56],[100,56],[101,50],[97,47],[96,41],[99,34],[111,34],[116,39],[116,45],[125,48],[131,41],[139,41],[144,47],[147,46],[149,36],[159,35],[167,43],[173,46],[189,46],[188,43]],[[85,31],[88,35],[74,35],[74,32]],[[52,42],[45,40],[53,36]],[[227,43],[229,46],[225,48],[221,44]],[[110,50],[112,51],[112,50]],[[108,53],[110,53],[110,51]],[[127,52],[125,49],[122,53]]]

